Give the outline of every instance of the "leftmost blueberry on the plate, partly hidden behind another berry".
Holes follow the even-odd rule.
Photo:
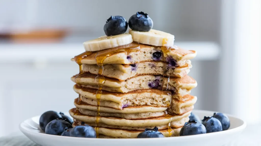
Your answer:
[[[55,120],[57,118],[62,118],[62,116],[55,111],[47,111],[43,113],[43,115],[41,115],[39,120],[40,128],[45,132],[46,125],[52,120]]]

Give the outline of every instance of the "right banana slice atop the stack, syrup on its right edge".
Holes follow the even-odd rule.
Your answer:
[[[174,35],[155,29],[151,29],[148,32],[141,32],[130,29],[129,34],[132,35],[133,41],[147,45],[166,47],[171,47],[174,45]]]

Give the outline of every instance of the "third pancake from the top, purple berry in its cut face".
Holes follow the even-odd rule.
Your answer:
[[[80,74],[77,78],[72,77],[71,79],[81,87],[98,89],[98,83],[95,81],[96,75],[90,73]],[[75,79],[74,79],[75,78]],[[154,76],[154,75],[139,75],[126,81],[119,81],[117,79],[106,78],[103,84],[102,90],[110,92],[128,93],[135,90],[143,89],[166,89],[167,88],[167,77]],[[178,96],[184,96],[190,93],[192,88],[197,86],[196,80],[188,75],[183,78],[170,77],[168,90],[173,91]]]

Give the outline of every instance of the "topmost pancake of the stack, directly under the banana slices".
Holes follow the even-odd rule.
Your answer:
[[[192,59],[197,55],[196,51],[193,50],[183,50],[181,48],[179,49],[173,49],[170,52],[168,52],[168,57],[164,57],[163,52],[161,51],[161,47],[157,46],[149,46],[144,45],[140,43],[130,43],[128,45],[123,45],[115,48],[100,50],[97,52],[93,52],[91,55],[86,56],[84,59],[81,60],[82,64],[96,64],[95,56],[99,53],[102,54],[104,52],[110,52],[110,50],[118,50],[118,49],[124,49],[130,46],[140,46],[140,50],[138,52],[120,52],[115,53],[104,60],[104,64],[134,64],[138,62],[144,62],[144,61],[163,61],[163,62],[170,62],[174,61],[176,64],[179,64],[181,66],[182,62],[185,64],[185,60]],[[153,56],[153,53],[159,52],[159,57],[155,58]],[[74,59],[72,59],[74,61]]]

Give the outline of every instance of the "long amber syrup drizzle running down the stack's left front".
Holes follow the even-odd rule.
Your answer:
[[[100,97],[102,96],[102,87],[103,84],[105,83],[106,79],[104,78],[103,74],[103,64],[104,64],[104,60],[113,54],[117,54],[117,53],[121,53],[121,52],[137,52],[140,50],[140,46],[139,45],[134,45],[134,44],[129,44],[129,45],[124,45],[124,46],[119,46],[119,47],[115,47],[115,48],[111,48],[111,49],[106,49],[103,51],[100,51],[97,53],[97,55],[95,56],[95,60],[96,60],[96,64],[99,66],[99,70],[98,70],[98,75],[95,78],[95,81],[98,83],[98,90],[96,92],[96,99],[97,99],[97,115],[96,115],[96,120],[95,120],[95,124],[96,124],[96,135],[97,138],[99,138],[99,119],[100,119]]]

